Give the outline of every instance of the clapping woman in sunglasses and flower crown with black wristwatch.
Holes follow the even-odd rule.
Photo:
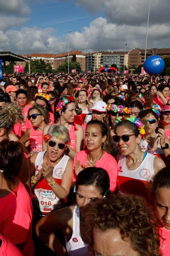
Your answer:
[[[170,142],[166,137],[163,124],[160,122],[160,112],[158,105],[152,108],[143,108],[139,112],[139,119],[146,125],[147,134],[141,140],[140,148],[162,158],[166,162],[166,157],[170,154]],[[168,159],[167,159],[168,160]]]

